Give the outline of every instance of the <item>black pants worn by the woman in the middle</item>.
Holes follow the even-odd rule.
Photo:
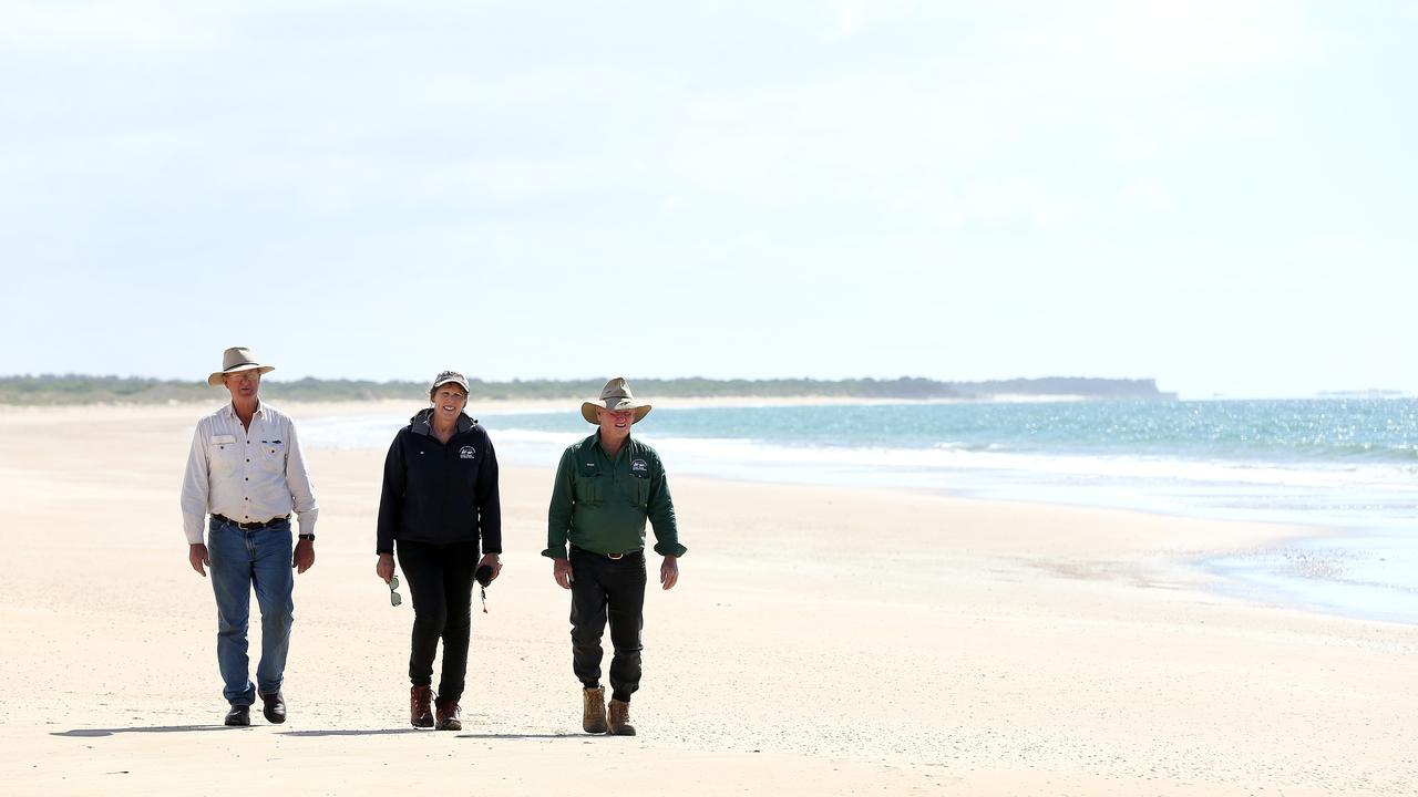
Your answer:
[[[468,637],[472,632],[472,574],[478,569],[478,543],[435,545],[397,540],[398,566],[414,598],[414,640],[408,654],[408,681],[428,686],[434,676],[438,638],[444,641],[440,701],[462,698],[468,674]]]

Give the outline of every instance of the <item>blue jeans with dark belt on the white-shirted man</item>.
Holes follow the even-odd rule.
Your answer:
[[[207,535],[211,557],[211,591],[217,596],[217,665],[225,681],[223,696],[234,706],[250,706],[257,688],[271,693],[285,679],[295,604],[295,572],[291,569],[291,522],[244,532],[211,519]],[[251,589],[261,607],[261,662],[257,685],[248,679],[247,620]]]

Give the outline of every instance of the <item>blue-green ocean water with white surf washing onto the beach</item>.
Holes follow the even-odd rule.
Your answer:
[[[570,403],[574,404],[574,403]],[[410,414],[417,407],[410,407]],[[564,411],[485,413],[499,459],[554,467],[593,431]],[[407,417],[313,418],[315,447],[383,448]],[[1418,623],[1418,400],[658,408],[637,425],[674,474],[1319,526],[1201,563],[1228,591]]]

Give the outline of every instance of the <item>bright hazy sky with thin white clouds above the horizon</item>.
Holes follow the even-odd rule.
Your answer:
[[[0,4],[0,374],[1418,391],[1412,3]]]

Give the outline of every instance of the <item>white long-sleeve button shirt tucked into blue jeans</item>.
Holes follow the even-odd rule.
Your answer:
[[[182,482],[183,532],[203,542],[207,515],[259,523],[295,511],[301,533],[315,533],[315,503],[295,424],[275,407],[257,406],[251,428],[231,404],[197,421]]]

